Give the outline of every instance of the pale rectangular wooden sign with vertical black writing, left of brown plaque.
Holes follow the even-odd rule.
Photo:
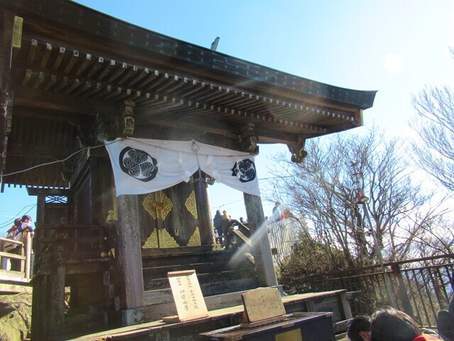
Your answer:
[[[179,322],[206,318],[208,310],[201,293],[196,271],[173,271],[168,272],[172,296],[177,306]]]

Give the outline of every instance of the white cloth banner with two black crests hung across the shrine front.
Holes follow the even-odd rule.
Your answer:
[[[145,194],[189,181],[199,166],[216,181],[260,195],[254,157],[196,141],[116,139],[106,141],[116,195]]]

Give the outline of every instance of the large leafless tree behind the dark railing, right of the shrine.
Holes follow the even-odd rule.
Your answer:
[[[278,155],[270,200],[279,198],[309,221],[311,235],[331,259],[343,252],[350,266],[366,265],[376,256],[370,226],[352,190],[352,163],[362,173],[370,196],[368,210],[380,249],[388,261],[405,259],[418,247],[437,210],[411,179],[405,149],[398,139],[386,141],[375,127],[365,136],[337,134],[326,144],[308,141],[301,164]],[[285,165],[282,167],[282,165]]]

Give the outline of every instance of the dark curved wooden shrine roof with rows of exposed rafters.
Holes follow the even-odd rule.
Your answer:
[[[0,6],[5,36],[14,16],[23,18],[11,70],[11,40],[1,49],[2,104],[9,108],[0,131],[4,174],[66,158],[99,144],[100,134],[112,138],[131,114],[137,137],[241,149],[255,136],[258,143],[297,146],[360,126],[362,110],[375,99],[375,91],[289,75],[72,1],[0,0]],[[65,167],[35,168],[4,183],[66,188]]]

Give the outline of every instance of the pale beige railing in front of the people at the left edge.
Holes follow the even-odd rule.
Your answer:
[[[0,278],[31,278],[31,242],[29,233],[23,233],[23,242],[0,237]],[[6,251],[8,244],[16,245],[10,251]],[[11,266],[8,266],[11,264]],[[13,266],[19,264],[19,266]]]

